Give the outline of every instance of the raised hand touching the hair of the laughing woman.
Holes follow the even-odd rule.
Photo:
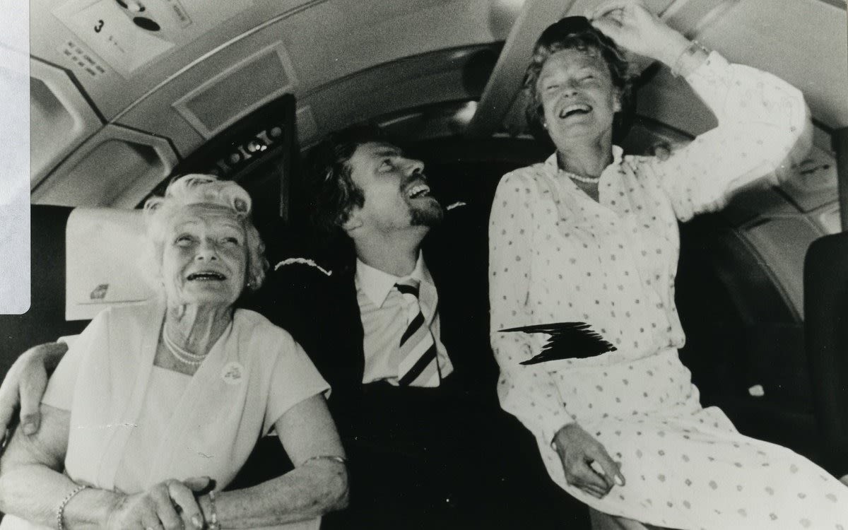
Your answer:
[[[641,0],[608,0],[586,16],[618,46],[669,66],[690,44],[686,37],[651,13]]]

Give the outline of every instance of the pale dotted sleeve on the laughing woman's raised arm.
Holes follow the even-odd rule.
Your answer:
[[[784,169],[812,145],[804,96],[774,75],[728,64],[716,52],[686,77],[718,126],[651,159],[678,219],[722,208],[731,192]]]

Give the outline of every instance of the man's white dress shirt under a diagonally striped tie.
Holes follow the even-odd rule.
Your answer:
[[[392,384],[398,382],[399,344],[409,324],[409,303],[404,301],[404,296],[394,285],[409,278],[421,282],[418,295],[421,315],[424,316],[425,326],[430,328],[436,343],[438,368],[442,378],[454,370],[439,334],[436,285],[432,282],[432,276],[421,253],[418,254],[415,270],[409,276],[393,276],[357,259],[356,298],[360,304],[362,328],[365,332],[363,383],[383,380]]]

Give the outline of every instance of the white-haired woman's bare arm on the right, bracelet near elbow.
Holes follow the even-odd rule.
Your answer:
[[[304,521],[348,503],[344,449],[321,394],[300,401],[275,424],[295,468],[252,488],[204,495],[206,521],[215,511],[224,528],[266,527]]]

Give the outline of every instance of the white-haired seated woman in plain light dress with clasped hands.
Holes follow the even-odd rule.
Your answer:
[[[233,309],[267,267],[250,208],[204,175],[148,201],[164,297],[104,310],[72,344],[40,430],[0,462],[3,528],[317,528],[344,505],[326,382],[287,332]],[[295,469],[217,493],[272,429]]]

